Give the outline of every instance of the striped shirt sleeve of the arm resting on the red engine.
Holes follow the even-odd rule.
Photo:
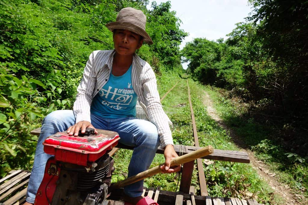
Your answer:
[[[77,88],[77,95],[73,108],[76,123],[83,120],[91,122],[90,106],[92,103],[92,93],[95,89],[96,83],[96,74],[93,68],[94,59],[94,52],[92,52],[84,68],[81,82]]]

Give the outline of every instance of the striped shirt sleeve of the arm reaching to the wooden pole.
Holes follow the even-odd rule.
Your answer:
[[[148,63],[144,66],[144,71],[142,74],[142,88],[145,98],[145,105],[150,121],[157,127],[158,135],[160,137],[160,145],[162,148],[164,148],[167,144],[173,145],[172,134],[169,127],[170,120],[160,103],[156,77],[154,71]]]

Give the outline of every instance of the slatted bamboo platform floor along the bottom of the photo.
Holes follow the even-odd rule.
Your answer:
[[[26,200],[27,185],[30,171],[14,170],[6,177],[0,179],[0,205],[19,205]],[[160,205],[259,205],[256,200],[222,198],[194,195],[194,188],[191,187],[191,194],[183,192],[172,192],[160,190],[160,188],[144,188],[144,196],[150,196]],[[109,195],[111,205],[123,205],[123,189],[113,190]]]

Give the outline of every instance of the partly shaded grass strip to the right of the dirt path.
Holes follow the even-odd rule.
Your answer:
[[[303,196],[299,201],[307,203],[308,168],[305,159],[284,148],[280,138],[274,134],[274,126],[261,124],[247,114],[247,105],[224,97],[216,88],[207,86],[206,91],[224,122],[254,151],[259,160],[267,164],[271,172],[276,173],[282,186],[289,186],[294,194]]]

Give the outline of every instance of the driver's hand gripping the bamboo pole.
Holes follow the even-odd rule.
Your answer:
[[[181,170],[181,165],[179,166],[174,166],[174,167],[170,167],[170,161],[173,158],[178,157],[178,155],[176,154],[174,147],[172,144],[167,144],[165,147],[165,151],[164,151],[164,156],[165,156],[165,163],[160,166],[160,169],[163,173],[174,173],[174,172],[178,172]]]

